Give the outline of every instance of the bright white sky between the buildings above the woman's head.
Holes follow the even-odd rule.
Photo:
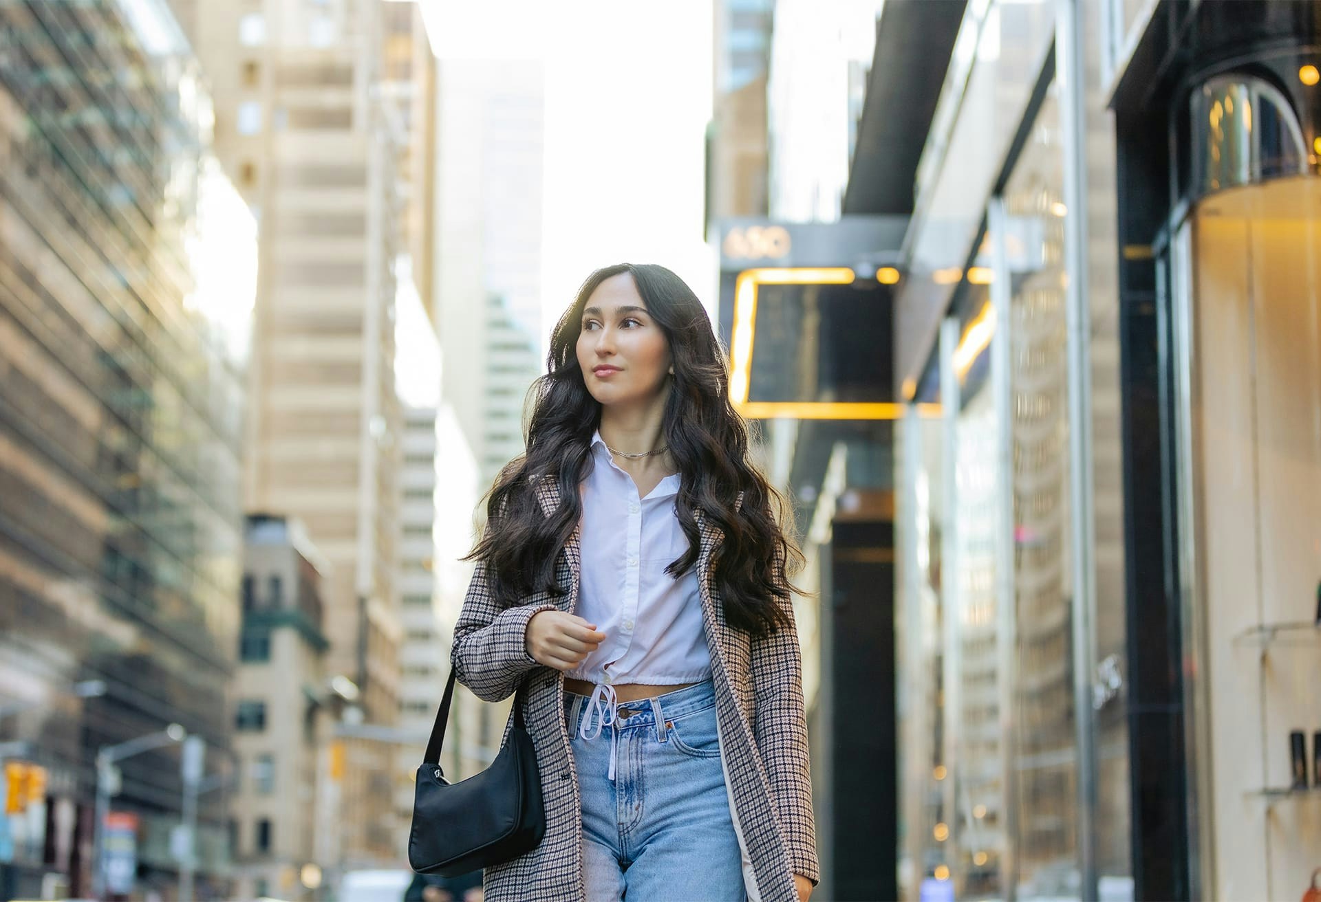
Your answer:
[[[713,308],[701,239],[711,0],[421,3],[443,58],[546,62],[543,333],[612,263],[667,265]]]

